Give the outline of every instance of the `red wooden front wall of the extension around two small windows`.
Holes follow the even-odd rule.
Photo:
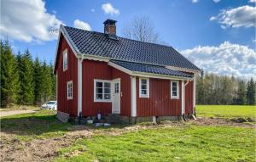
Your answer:
[[[149,79],[149,98],[139,98],[139,78],[137,77],[137,116],[177,116],[181,115],[181,81],[179,99],[171,99],[169,80]]]

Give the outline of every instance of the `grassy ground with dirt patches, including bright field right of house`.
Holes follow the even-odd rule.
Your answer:
[[[201,117],[255,117],[250,106],[196,109]],[[255,161],[253,126],[169,122],[96,128],[61,123],[54,111],[41,110],[1,118],[0,151],[3,161]]]

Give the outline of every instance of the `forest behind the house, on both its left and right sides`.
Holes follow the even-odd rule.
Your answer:
[[[28,49],[13,53],[8,41],[1,41],[1,108],[40,105],[55,100],[53,64],[32,59]],[[255,104],[256,82],[235,76],[201,75],[196,81],[196,104]]]

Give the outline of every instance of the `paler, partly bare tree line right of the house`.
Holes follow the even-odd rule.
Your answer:
[[[255,105],[256,82],[234,76],[201,75],[196,81],[197,104],[250,104]]]

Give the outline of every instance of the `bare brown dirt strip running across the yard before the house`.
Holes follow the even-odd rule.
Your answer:
[[[199,118],[197,120],[189,120],[190,124],[202,126],[246,126],[253,127],[243,123],[235,123],[228,120]],[[127,131],[137,131],[154,127],[172,127],[172,126],[188,126],[184,122],[166,121],[160,125],[135,125],[126,126],[124,128],[110,129],[91,129],[87,126],[71,126],[69,131],[62,137],[51,137],[48,139],[34,139],[30,142],[21,142],[11,133],[1,132],[0,152],[1,161],[50,161],[58,155],[60,148],[67,148],[72,142],[90,137],[93,134],[108,134],[118,136]],[[86,150],[86,148],[84,148]],[[75,150],[68,156],[80,154],[84,150]]]

